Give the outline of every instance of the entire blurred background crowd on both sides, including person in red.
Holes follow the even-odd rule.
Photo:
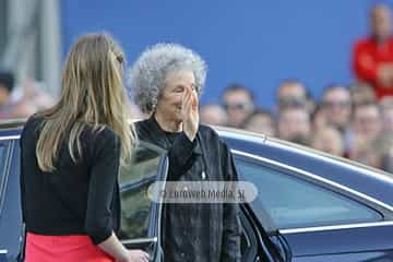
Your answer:
[[[320,99],[300,80],[287,79],[276,87],[274,108],[262,108],[250,88],[234,83],[221,104],[201,105],[201,122],[263,133],[393,172],[393,37],[386,5],[370,10],[370,35],[354,44],[352,56],[356,81],[326,85]],[[0,119],[25,118],[53,105],[44,90],[0,72]],[[139,115],[138,108],[131,110]]]

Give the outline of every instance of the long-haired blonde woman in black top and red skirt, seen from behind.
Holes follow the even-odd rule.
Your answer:
[[[148,261],[116,237],[119,164],[135,140],[122,84],[124,56],[107,35],[71,48],[57,105],[31,117],[21,138],[26,262]]]

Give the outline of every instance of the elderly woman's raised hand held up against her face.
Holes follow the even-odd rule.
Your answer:
[[[198,96],[191,87],[187,87],[181,104],[183,132],[190,141],[195,139],[199,126]]]

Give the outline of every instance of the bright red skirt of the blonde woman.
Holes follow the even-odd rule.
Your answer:
[[[25,262],[115,262],[88,236],[44,236],[27,233]]]

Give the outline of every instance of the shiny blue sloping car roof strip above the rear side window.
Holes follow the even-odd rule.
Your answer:
[[[214,127],[234,151],[269,158],[393,206],[393,175],[307,146],[238,129]]]

